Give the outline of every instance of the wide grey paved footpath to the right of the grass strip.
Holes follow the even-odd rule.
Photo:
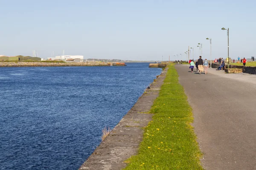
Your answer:
[[[206,170],[256,170],[256,75],[175,65],[189,104]],[[189,72],[190,71],[190,72]]]

